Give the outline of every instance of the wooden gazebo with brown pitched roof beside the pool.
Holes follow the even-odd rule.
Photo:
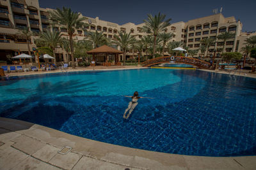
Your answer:
[[[114,55],[115,65],[120,66],[119,62],[119,54],[124,53],[110,46],[102,45],[99,48],[95,48],[87,52],[88,54],[92,54],[93,61],[95,65],[102,64],[103,66],[111,66],[111,63],[108,62],[108,56]]]

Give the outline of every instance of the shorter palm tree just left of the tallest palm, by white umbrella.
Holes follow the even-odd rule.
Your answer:
[[[54,57],[54,64],[56,64],[56,55],[55,55],[55,48],[61,44],[62,38],[61,38],[61,33],[56,32],[56,31],[45,31],[45,32],[40,32],[39,34],[40,38],[36,39],[39,44],[49,46],[49,48],[52,49],[53,52],[53,57]]]

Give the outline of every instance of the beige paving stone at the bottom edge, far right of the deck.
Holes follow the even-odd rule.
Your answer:
[[[243,169],[239,164],[234,162],[231,157],[194,157],[184,156],[186,164],[190,170],[193,169],[225,169],[235,170]]]

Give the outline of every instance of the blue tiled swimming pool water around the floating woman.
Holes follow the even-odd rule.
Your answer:
[[[184,155],[256,155],[256,79],[134,69],[0,80],[0,116],[84,138]],[[138,106],[128,120],[134,91]]]

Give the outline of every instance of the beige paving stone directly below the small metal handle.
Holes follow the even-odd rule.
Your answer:
[[[49,163],[63,169],[72,169],[81,157],[82,155],[72,152],[68,152],[66,155],[58,153],[49,161]]]

